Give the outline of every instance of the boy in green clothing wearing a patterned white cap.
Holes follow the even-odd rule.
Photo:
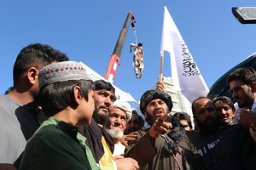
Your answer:
[[[95,110],[94,83],[83,65],[65,61],[45,66],[39,87],[49,119],[27,142],[19,169],[98,169],[77,127],[89,125]]]

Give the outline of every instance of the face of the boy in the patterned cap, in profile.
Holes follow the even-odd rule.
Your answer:
[[[83,124],[89,125],[91,122],[91,117],[93,114],[93,111],[95,110],[95,103],[93,99],[94,91],[90,90],[88,94],[88,101],[83,98],[83,102],[81,103],[81,115],[83,116]]]

